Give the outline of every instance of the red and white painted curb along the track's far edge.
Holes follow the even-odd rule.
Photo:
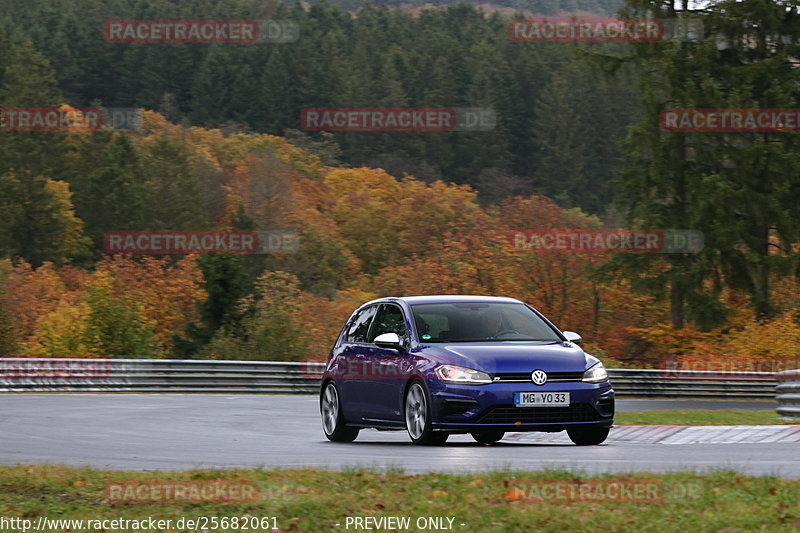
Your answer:
[[[507,433],[503,441],[571,444],[566,432]],[[800,442],[800,425],[775,426],[614,426],[606,443],[763,444]]]

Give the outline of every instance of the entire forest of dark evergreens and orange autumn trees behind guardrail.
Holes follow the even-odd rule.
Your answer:
[[[658,124],[666,107],[797,107],[800,17],[783,2],[691,14],[727,48],[513,42],[510,17],[467,4],[1,3],[0,107],[139,109],[130,130],[0,128],[2,356],[320,360],[369,299],[456,293],[522,299],[606,366],[796,367],[797,134]],[[607,7],[594,4],[578,8]],[[622,9],[676,17],[672,4]],[[95,31],[112,16],[286,18],[301,38],[112,44]],[[793,41],[746,44],[773,34]],[[321,106],[491,108],[497,126],[303,131]],[[705,244],[509,246],[512,230],[569,228],[698,230]],[[290,231],[298,246],[104,251],[108,231],[164,229]]]

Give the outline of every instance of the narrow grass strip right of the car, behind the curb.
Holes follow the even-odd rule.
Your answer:
[[[666,424],[679,426],[736,426],[791,424],[784,422],[774,410],[751,409],[670,409],[664,411],[630,411],[614,415],[616,425]]]

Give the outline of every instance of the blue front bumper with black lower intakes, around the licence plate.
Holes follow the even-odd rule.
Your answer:
[[[611,427],[614,390],[608,382],[490,383],[452,385],[428,383],[433,428],[448,432],[563,431],[571,427]],[[569,392],[565,407],[516,407],[515,392]]]

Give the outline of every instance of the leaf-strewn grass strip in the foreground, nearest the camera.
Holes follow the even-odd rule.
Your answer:
[[[186,480],[201,484],[248,480],[257,485],[260,496],[252,503],[227,504],[124,504],[106,499],[110,483],[158,481],[163,485]],[[574,485],[576,482],[580,484]],[[569,488],[587,486],[584,493],[580,492],[583,489]],[[621,496],[624,491],[619,488],[624,486],[629,492]],[[646,501],[634,498],[637,487],[649,487],[640,491],[648,496]],[[572,499],[575,494],[583,496]],[[617,497],[609,500],[612,494]],[[198,517],[275,517],[266,528],[246,531],[355,531],[352,519],[367,516],[409,517],[408,528],[373,527],[382,531],[423,530],[417,520],[426,517],[445,518],[441,527],[426,527],[427,531],[797,531],[798,494],[800,480],[749,477],[730,471],[591,477],[556,470],[405,475],[401,471],[371,470],[115,472],[61,466],[0,467],[2,517],[20,517],[33,523],[40,516],[84,520],[153,517],[173,521],[171,528],[157,531],[175,532],[200,530],[175,525],[180,518]],[[605,499],[598,500],[598,495],[605,495]],[[453,518],[452,524],[446,518]],[[277,529],[271,529],[273,525]],[[76,527],[70,529],[78,531]],[[243,530],[241,526],[206,529]]]

